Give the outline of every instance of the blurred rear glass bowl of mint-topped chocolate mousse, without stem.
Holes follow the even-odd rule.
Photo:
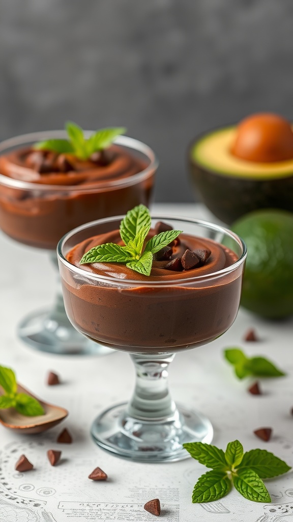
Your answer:
[[[75,127],[79,142],[67,128],[68,140],[53,137],[29,146],[29,139],[18,140],[12,150],[0,145],[0,227],[11,238],[55,249],[82,223],[149,204],[156,165],[148,147],[117,137],[118,132],[105,140],[105,132],[121,134],[122,128],[102,129],[86,139]],[[99,133],[103,139],[94,143]]]

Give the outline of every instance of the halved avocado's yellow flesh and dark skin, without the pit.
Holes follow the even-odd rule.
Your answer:
[[[230,152],[236,126],[217,129],[193,141],[189,149],[196,194],[227,224],[260,208],[293,211],[293,160],[257,163]]]

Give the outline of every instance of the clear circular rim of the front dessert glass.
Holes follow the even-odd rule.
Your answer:
[[[88,279],[92,279],[94,281],[104,281],[104,282],[112,282],[117,284],[119,283],[120,286],[129,287],[129,286],[136,286],[136,287],[148,287],[148,286],[155,286],[155,287],[168,287],[168,286],[183,286],[182,283],[186,282],[193,282],[193,281],[206,281],[209,279],[214,279],[216,277],[229,274],[229,272],[233,272],[238,267],[242,265],[242,263],[245,261],[247,257],[247,246],[246,243],[234,232],[232,232],[229,229],[226,229],[225,227],[222,227],[221,225],[217,225],[215,223],[212,223],[210,221],[205,221],[202,219],[196,219],[196,218],[188,218],[184,216],[170,216],[169,214],[160,214],[160,215],[151,215],[152,219],[158,219],[158,220],[178,220],[178,221],[185,221],[188,223],[194,223],[202,228],[208,228],[212,229],[215,232],[220,232],[223,234],[228,235],[230,238],[234,239],[238,245],[242,248],[242,254],[237,259],[233,265],[230,265],[226,268],[222,268],[221,270],[217,270],[216,272],[213,272],[212,274],[205,274],[201,276],[193,276],[193,277],[186,277],[182,279],[168,279],[163,281],[156,281],[156,280],[150,280],[150,281],[142,281],[138,279],[121,279],[119,277],[112,277],[112,276],[101,276],[98,274],[93,274],[92,272],[88,272],[86,270],[83,270],[82,268],[79,268],[75,265],[72,265],[69,263],[69,261],[66,259],[66,257],[63,255],[63,247],[65,242],[77,234],[78,232],[81,232],[82,230],[90,229],[100,223],[109,223],[111,221],[117,221],[123,219],[125,216],[113,216],[111,218],[102,218],[97,219],[95,221],[90,221],[89,223],[84,223],[83,225],[80,225],[79,227],[71,230],[70,232],[67,232],[63,238],[61,238],[57,244],[57,258],[66,268],[73,270],[76,272],[76,274],[79,274],[83,277],[87,277]]]

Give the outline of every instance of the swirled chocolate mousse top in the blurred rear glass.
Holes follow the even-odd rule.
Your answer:
[[[60,161],[62,159],[66,160]],[[44,185],[92,185],[124,179],[141,172],[146,163],[127,149],[112,145],[96,160],[79,160],[73,155],[57,155],[34,151],[31,147],[17,149],[0,156],[0,172],[8,177]]]

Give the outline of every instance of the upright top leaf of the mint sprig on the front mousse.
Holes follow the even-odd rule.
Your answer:
[[[127,245],[134,240],[142,227],[151,228],[151,216],[149,209],[144,205],[138,205],[129,210],[120,223],[120,236]]]

